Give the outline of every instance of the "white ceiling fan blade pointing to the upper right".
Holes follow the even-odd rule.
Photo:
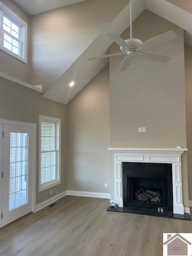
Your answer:
[[[146,49],[149,49],[149,48],[152,48],[154,46],[158,46],[160,44],[164,44],[170,40],[173,40],[177,38],[177,34],[173,31],[168,31],[164,34],[161,34],[159,36],[156,36],[152,39],[149,39],[148,41],[140,44],[138,46],[138,49],[142,47],[142,50],[146,50]]]

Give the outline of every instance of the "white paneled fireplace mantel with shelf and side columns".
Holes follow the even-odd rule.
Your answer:
[[[181,155],[187,148],[108,148],[112,152],[111,199],[123,207],[122,162],[172,164],[173,211],[184,214]]]

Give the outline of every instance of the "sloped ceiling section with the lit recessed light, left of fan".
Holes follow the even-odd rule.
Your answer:
[[[112,2],[112,0],[110,1]],[[120,2],[122,3],[123,1]],[[124,6],[124,8],[114,16],[111,22],[100,30],[98,36],[90,43],[86,50],[82,52],[66,72],[64,72],[64,74],[62,74],[62,76],[44,93],[44,97],[67,104],[100,70],[102,70],[109,62],[108,58],[94,61],[88,61],[87,59],[102,54],[108,54],[108,49],[113,42],[104,32],[115,32],[118,35],[122,34],[122,32],[130,26],[129,8],[129,4]],[[133,20],[144,10],[144,1],[134,0]],[[69,87],[71,80],[76,83],[72,88]]]

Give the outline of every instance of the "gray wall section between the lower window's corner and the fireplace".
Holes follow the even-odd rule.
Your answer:
[[[107,65],[67,105],[68,190],[110,193],[109,106]]]

